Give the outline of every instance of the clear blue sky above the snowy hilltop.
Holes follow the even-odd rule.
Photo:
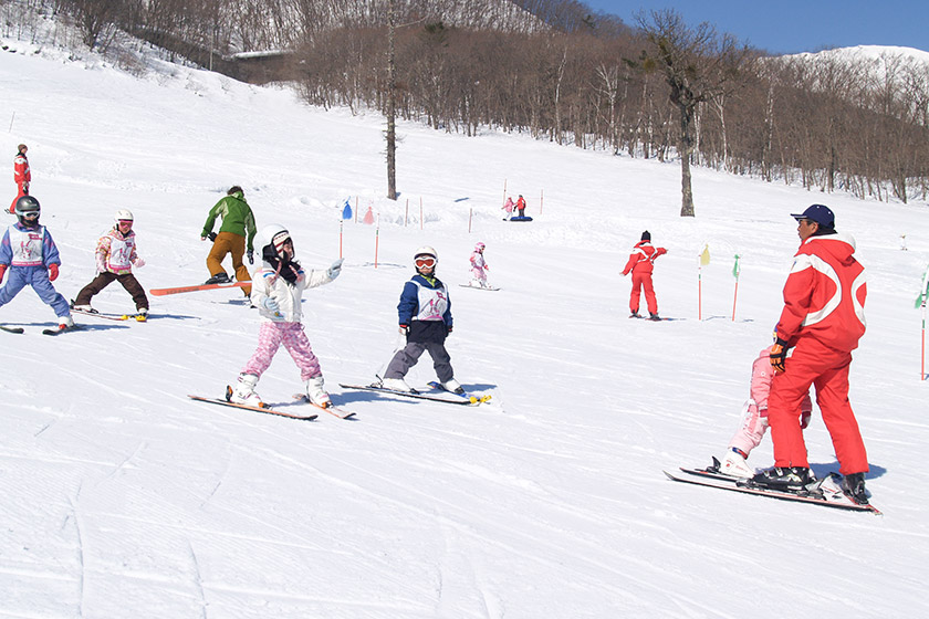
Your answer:
[[[850,45],[929,52],[929,0],[582,0],[635,25],[639,10],[675,9],[689,25],[710,22],[772,53]]]

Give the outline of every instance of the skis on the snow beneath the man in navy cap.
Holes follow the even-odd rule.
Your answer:
[[[812,482],[803,490],[797,491],[772,490],[756,485],[747,478],[733,478],[732,475],[720,473],[719,460],[716,458],[713,458],[713,465],[706,469],[686,469],[681,466],[674,473],[665,471],[665,474],[668,479],[676,482],[728,490],[730,492],[741,492],[743,494],[754,494],[756,496],[769,496],[781,501],[812,503],[837,510],[870,512],[871,514],[881,515],[880,510],[874,505],[856,503],[848,497],[839,485],[842,475],[838,473],[829,473],[822,480]]]

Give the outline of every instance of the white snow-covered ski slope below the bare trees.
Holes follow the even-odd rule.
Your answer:
[[[355,421],[212,407],[251,355],[253,310],[228,291],[150,297],[147,324],[79,317],[44,337],[31,290],[0,308],[0,616],[17,618],[891,617],[926,608],[927,388],[920,313],[927,204],[865,202],[521,136],[401,125],[395,203],[383,118],[303,107],[176,66],[139,80],[46,54],[0,55],[0,153],[30,146],[32,193],[62,253],[59,291],[94,274],[113,213],[136,218],[146,288],[199,283],[210,207],[241,185],[307,266],[306,333]],[[11,165],[11,164],[10,164]],[[12,170],[10,170],[10,174]],[[507,192],[529,224],[501,220]],[[9,199],[14,195],[8,179]],[[345,200],[379,216],[348,221]],[[420,200],[425,221],[420,222]],[[770,343],[797,245],[790,217],[825,202],[869,273],[852,401],[883,517],[668,481],[721,454]],[[409,204],[409,224],[404,225]],[[10,216],[2,216],[12,221]],[[469,232],[470,227],[470,232]],[[662,323],[627,319],[619,275],[648,229]],[[900,251],[906,234],[908,251]],[[476,241],[500,292],[458,287]],[[373,379],[421,244],[451,286],[457,378],[477,408],[337,387]],[[697,255],[702,270],[698,321]],[[377,253],[375,253],[377,251]],[[742,272],[732,319],[733,256]],[[375,265],[376,260],[376,265]],[[132,310],[112,285],[102,311]],[[432,378],[424,360],[410,375]],[[281,350],[259,385],[284,410]],[[818,415],[818,473],[837,468]],[[752,454],[772,463],[769,440]]]

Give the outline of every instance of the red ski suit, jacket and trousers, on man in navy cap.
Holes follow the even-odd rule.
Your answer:
[[[810,237],[794,256],[777,323],[777,337],[794,349],[768,398],[775,466],[810,466],[800,416],[813,385],[839,472],[868,471],[865,443],[848,402],[848,367],[865,333],[867,296],[865,270],[854,252],[852,237],[827,234]]]

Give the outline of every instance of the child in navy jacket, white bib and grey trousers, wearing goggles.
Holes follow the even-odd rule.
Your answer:
[[[445,347],[445,339],[452,327],[451,300],[445,284],[436,277],[438,262],[438,253],[430,246],[419,248],[414,255],[416,275],[404,285],[397,305],[400,333],[406,335],[407,344],[397,350],[387,365],[382,380],[385,389],[413,391],[404,377],[422,353],[428,350],[442,388],[464,394],[464,389],[455,379],[451,357]]]

